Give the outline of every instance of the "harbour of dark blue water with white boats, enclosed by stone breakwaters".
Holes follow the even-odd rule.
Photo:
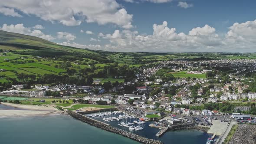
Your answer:
[[[90,115],[98,115],[102,112],[98,112],[98,113],[93,113],[93,114],[86,114],[86,116],[90,117]],[[97,117],[90,117],[90,118],[93,118],[95,120],[98,120],[98,121],[102,121],[106,124],[110,124],[112,125],[113,127],[116,127],[116,128],[120,128],[122,130],[125,130],[125,131],[129,131],[131,133],[135,133],[135,134],[138,134],[140,136],[143,136],[143,137],[146,137],[146,138],[153,138],[155,140],[159,140],[159,141],[162,141],[164,144],[166,143],[170,143],[169,141],[172,140],[172,141],[176,141],[176,139],[173,139],[173,135],[170,135],[170,134],[177,134],[177,133],[184,133],[185,134],[185,137],[190,137],[191,139],[194,140],[194,138],[192,137],[194,134],[196,134],[195,137],[201,137],[199,139],[195,139],[195,141],[197,141],[196,143],[194,144],[205,144],[207,139],[211,136],[211,134],[207,134],[206,132],[203,132],[203,131],[199,131],[199,130],[195,130],[195,129],[190,129],[190,130],[187,130],[187,129],[184,129],[184,130],[174,130],[174,131],[169,131],[167,128],[164,128],[164,127],[154,127],[154,122],[153,121],[144,121],[144,124],[143,124],[143,129],[141,131],[135,131],[129,127],[125,127],[124,125],[121,124],[121,122],[123,121],[122,119],[121,120],[112,120],[112,121],[104,121],[103,118],[109,118],[109,117],[119,117],[119,115],[126,115],[126,118],[125,119],[125,122],[129,122],[130,123],[132,121],[134,121],[134,119],[136,119],[137,117],[135,116],[131,116],[128,114],[125,114],[123,112],[118,112],[118,114],[113,114],[113,115],[108,115],[108,116],[97,116]],[[139,118],[137,118],[138,120]],[[135,124],[135,123],[133,123]],[[138,123],[137,123],[138,124]],[[136,124],[135,124],[136,126]],[[154,128],[153,128],[154,127]],[[161,128],[161,129],[159,129]],[[191,133],[193,132],[193,133]],[[161,134],[160,134],[161,133]],[[159,135],[158,135],[159,134]],[[188,135],[187,135],[188,134]],[[170,137],[173,137],[173,138],[170,138]],[[181,138],[179,141],[182,141],[183,139]],[[179,143],[179,141],[176,141],[177,143]]]

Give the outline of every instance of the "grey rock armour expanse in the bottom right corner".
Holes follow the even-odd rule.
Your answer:
[[[256,144],[256,125],[239,125],[229,144]]]

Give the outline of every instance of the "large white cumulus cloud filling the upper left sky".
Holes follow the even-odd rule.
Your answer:
[[[123,28],[132,27],[132,14],[128,14],[115,0],[2,0],[0,8],[0,13],[10,16],[20,16],[14,12],[16,9],[24,14],[66,26],[77,26],[86,21],[100,25],[113,23]]]

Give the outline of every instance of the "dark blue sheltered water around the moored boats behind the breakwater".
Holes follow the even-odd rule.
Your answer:
[[[95,114],[97,114],[97,113],[95,113]],[[86,116],[88,116],[88,117],[90,115],[92,115],[92,114],[86,114]],[[160,131],[160,129],[149,127],[149,124],[153,123],[153,121],[145,122],[145,124],[143,124],[144,129],[141,131],[132,131],[132,130],[129,130],[128,128],[118,125],[118,124],[120,124],[121,120],[120,121],[109,121],[109,122],[102,120],[102,118],[104,118],[104,117],[105,118],[118,117],[119,115],[124,115],[124,114],[119,113],[119,114],[115,114],[115,115],[93,117],[93,118],[98,121],[102,121],[104,123],[110,124],[116,128],[120,128],[125,131],[130,131],[132,133],[138,134],[138,135],[146,137],[146,138],[160,140],[164,144],[205,144],[207,141],[207,138],[210,137],[210,135],[207,134],[206,132],[198,131],[198,130],[167,131],[161,137],[156,137],[155,134],[157,134],[158,131]],[[92,118],[92,117],[90,117],[90,118]],[[135,118],[124,119],[125,122],[126,121],[133,122],[134,120],[135,120]],[[138,121],[138,118],[136,120]],[[136,124],[134,124],[134,125],[136,125]]]

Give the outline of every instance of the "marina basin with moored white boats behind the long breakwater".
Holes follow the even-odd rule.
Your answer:
[[[102,114],[103,112],[86,114],[86,116],[90,117],[90,115],[95,115],[95,114],[98,115],[100,113]],[[118,120],[114,120],[114,121],[104,121],[103,120],[103,118],[110,118],[110,117],[118,118],[119,115],[122,116],[119,121]],[[193,130],[193,129],[192,130],[168,131],[167,129],[164,129],[164,127],[161,127],[161,128],[159,126],[155,127],[153,121],[143,121],[142,123],[144,123],[144,124],[141,124],[141,125],[143,125],[143,129],[140,131],[136,131],[133,128],[135,128],[134,126],[138,126],[138,122],[137,122],[137,124],[132,124],[130,126],[131,128],[122,125],[121,122],[124,121],[124,123],[126,123],[126,121],[127,121],[127,123],[128,122],[132,123],[136,119],[137,119],[137,121],[139,121],[139,118],[132,117],[131,115],[128,116],[128,114],[124,113],[124,112],[120,112],[118,114],[107,115],[107,116],[97,116],[97,117],[90,117],[90,118],[93,118],[98,121],[102,121],[106,124],[112,125],[113,127],[116,127],[116,128],[119,128],[119,129],[122,129],[125,131],[129,131],[131,133],[138,134],[138,135],[146,137],[146,138],[152,138],[155,140],[162,141],[164,144],[168,144],[168,143],[170,143],[170,141],[172,141],[172,143],[177,143],[177,144],[178,143],[205,144],[207,139],[209,137],[211,137],[211,135],[207,134],[206,132],[199,131],[199,130]],[[159,137],[157,136],[158,133],[161,133]],[[177,137],[177,139],[176,139],[176,137]],[[184,139],[183,137],[187,137],[187,139]]]

